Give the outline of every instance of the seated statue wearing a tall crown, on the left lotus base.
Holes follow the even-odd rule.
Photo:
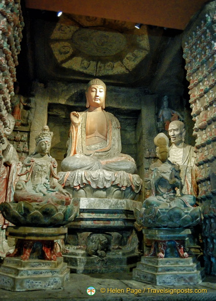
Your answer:
[[[58,183],[57,162],[50,156],[53,132],[45,126],[35,138],[34,153],[23,160],[19,181],[16,184],[14,201],[69,205],[70,194]]]

